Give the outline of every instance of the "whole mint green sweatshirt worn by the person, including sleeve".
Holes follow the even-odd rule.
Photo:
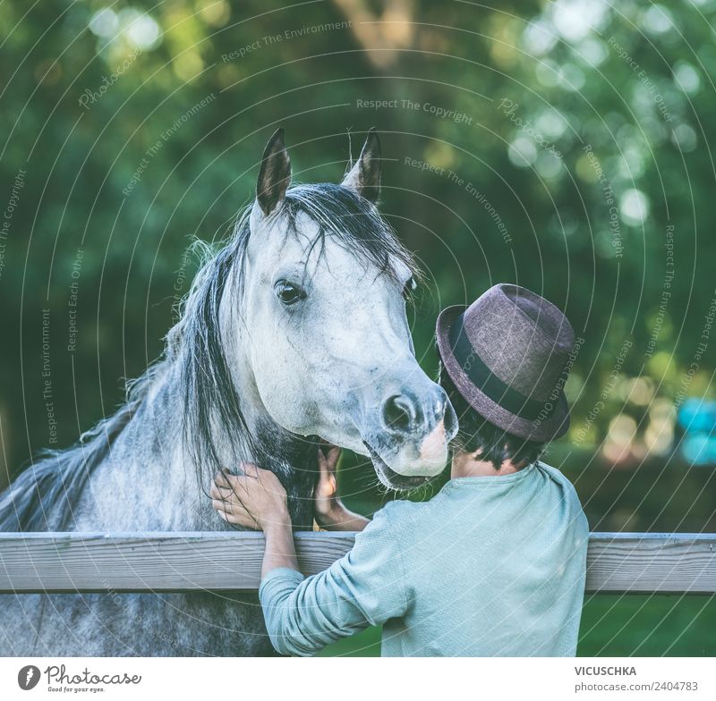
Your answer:
[[[384,656],[575,655],[588,536],[574,487],[544,463],[451,479],[430,502],[388,503],[328,570],[268,572],[268,635],[284,655],[376,624]]]

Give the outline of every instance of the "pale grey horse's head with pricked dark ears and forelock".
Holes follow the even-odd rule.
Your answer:
[[[414,356],[411,256],[379,215],[371,131],[340,185],[290,187],[283,131],[268,142],[243,252],[242,323],[257,398],[280,427],[370,455],[396,489],[435,477],[457,421]]]

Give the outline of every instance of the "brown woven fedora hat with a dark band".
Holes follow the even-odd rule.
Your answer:
[[[470,307],[444,309],[437,336],[447,374],[483,418],[539,443],[567,432],[562,388],[575,332],[551,302],[498,284]]]

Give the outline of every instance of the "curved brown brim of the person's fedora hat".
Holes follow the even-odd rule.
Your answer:
[[[482,418],[502,428],[512,435],[524,438],[526,441],[535,443],[546,443],[547,441],[559,438],[567,433],[569,428],[569,404],[565,393],[560,390],[556,406],[550,417],[529,419],[519,417],[501,407],[498,402],[493,401],[480,387],[473,384],[472,380],[465,374],[456,359],[448,340],[450,328],[467,307],[462,304],[443,309],[436,324],[436,337],[438,350],[447,375],[455,384],[458,391],[463,395],[465,401],[477,411]]]

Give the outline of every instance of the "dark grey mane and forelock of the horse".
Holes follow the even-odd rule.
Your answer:
[[[286,192],[282,206],[287,235],[298,235],[296,220],[305,214],[318,224],[311,249],[325,250],[326,236],[351,250],[366,266],[397,277],[396,261],[420,275],[410,253],[396,239],[378,210],[338,185],[301,184]],[[183,440],[201,484],[202,470],[211,476],[225,468],[219,459],[218,436],[228,436],[237,458],[263,454],[247,430],[241,397],[236,391],[221,336],[219,308],[227,284],[234,281],[237,301],[243,298],[243,266],[251,235],[251,206],[239,216],[234,232],[220,249],[197,242],[203,264],[183,300],[181,317],[166,334],[164,358],[127,384],[127,401],[63,451],[42,453],[4,494],[0,494],[0,531],[66,530],[72,507],[112,444],[140,408],[149,384],[175,367],[183,382]],[[234,274],[234,267],[239,266]],[[236,308],[241,313],[241,304]]]

